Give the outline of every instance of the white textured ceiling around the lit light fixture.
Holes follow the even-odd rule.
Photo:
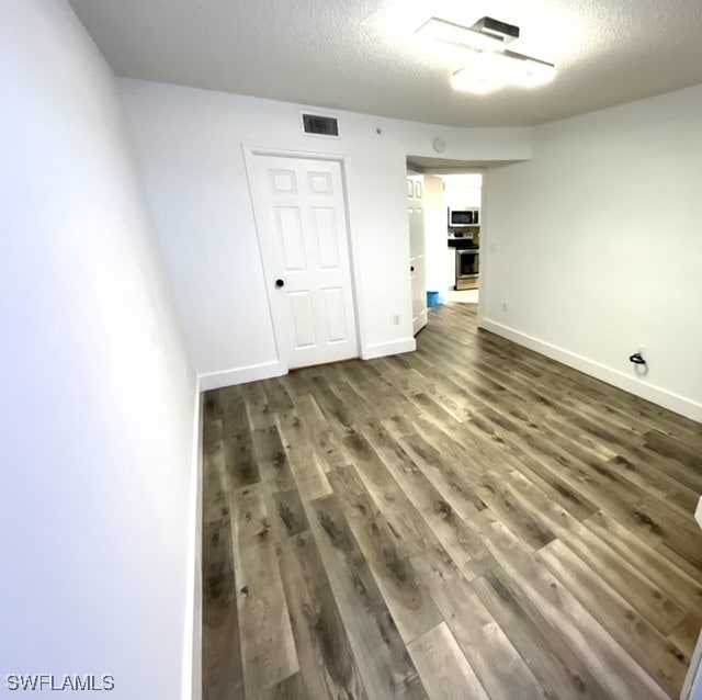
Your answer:
[[[539,124],[702,83],[701,0],[70,0],[117,75],[452,126]],[[454,92],[414,31],[517,24],[548,86]]]

